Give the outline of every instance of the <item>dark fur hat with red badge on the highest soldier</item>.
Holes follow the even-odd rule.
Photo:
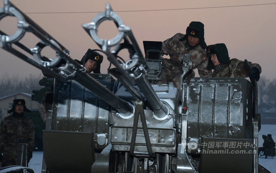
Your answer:
[[[180,38],[179,41],[187,40],[188,36],[199,38],[199,44],[201,48],[206,48],[206,43],[204,40],[204,25],[201,22],[192,21],[186,29],[186,34],[184,37]]]

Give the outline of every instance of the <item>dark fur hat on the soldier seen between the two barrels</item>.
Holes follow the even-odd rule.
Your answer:
[[[88,49],[87,52],[85,53],[85,55],[82,57],[82,60],[75,60],[77,61],[79,64],[84,65],[88,60],[92,60],[95,61],[98,66],[97,68],[93,71],[94,73],[101,73],[100,69],[101,69],[101,63],[103,60],[103,56],[101,54],[99,54],[96,51],[93,51],[92,49]]]

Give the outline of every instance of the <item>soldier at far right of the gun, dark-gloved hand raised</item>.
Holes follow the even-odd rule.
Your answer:
[[[243,61],[238,59],[231,59],[228,56],[228,50],[223,43],[209,45],[206,48],[206,55],[208,56],[207,69],[213,69],[212,77],[219,78],[246,78],[247,73],[243,68]],[[251,63],[252,72],[250,76],[259,80],[262,71],[259,64]]]

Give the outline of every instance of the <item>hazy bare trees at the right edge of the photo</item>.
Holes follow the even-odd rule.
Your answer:
[[[271,106],[276,106],[276,78],[273,80],[261,77],[258,85],[258,101],[268,103]]]

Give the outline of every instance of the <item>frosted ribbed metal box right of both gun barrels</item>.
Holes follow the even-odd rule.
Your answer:
[[[197,141],[200,148],[201,137],[252,138],[251,91],[244,78],[191,79],[187,142]]]

